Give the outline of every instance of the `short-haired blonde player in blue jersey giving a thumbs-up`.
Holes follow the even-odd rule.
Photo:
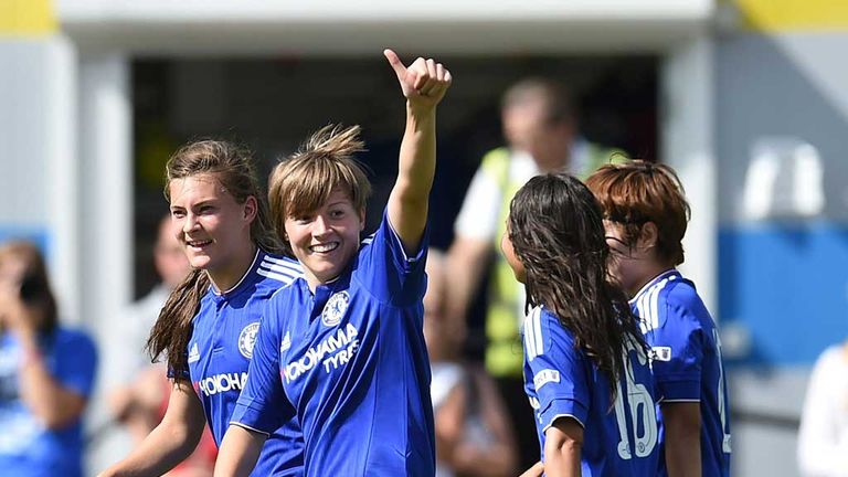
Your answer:
[[[272,176],[277,230],[305,277],[272,298],[216,475],[246,475],[265,435],[294,415],[307,476],[435,471],[424,231],[436,105],[451,73],[433,60],[406,68],[391,50],[385,56],[406,97],[406,129],[374,235],[360,247],[370,186],[352,157],[359,128],[321,129]]]

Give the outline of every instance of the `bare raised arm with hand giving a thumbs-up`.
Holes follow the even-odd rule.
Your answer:
[[[418,247],[427,223],[427,202],[436,170],[436,105],[451,86],[451,72],[418,57],[409,67],[392,50],[383,52],[406,98],[406,128],[398,180],[389,195],[389,222],[407,252]]]

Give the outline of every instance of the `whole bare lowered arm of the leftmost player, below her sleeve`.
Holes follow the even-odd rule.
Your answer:
[[[99,477],[160,476],[184,460],[203,433],[203,406],[187,381],[176,381],[162,422],[124,460]]]

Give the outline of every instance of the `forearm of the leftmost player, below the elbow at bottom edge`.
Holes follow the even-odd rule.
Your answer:
[[[124,460],[99,477],[153,477],[166,474],[191,455],[198,446],[199,430],[160,423]]]

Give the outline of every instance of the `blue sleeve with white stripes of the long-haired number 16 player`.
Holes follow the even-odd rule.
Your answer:
[[[564,416],[585,427],[590,407],[590,383],[585,356],[548,312],[534,310],[524,322],[524,353],[539,400],[542,432]]]

